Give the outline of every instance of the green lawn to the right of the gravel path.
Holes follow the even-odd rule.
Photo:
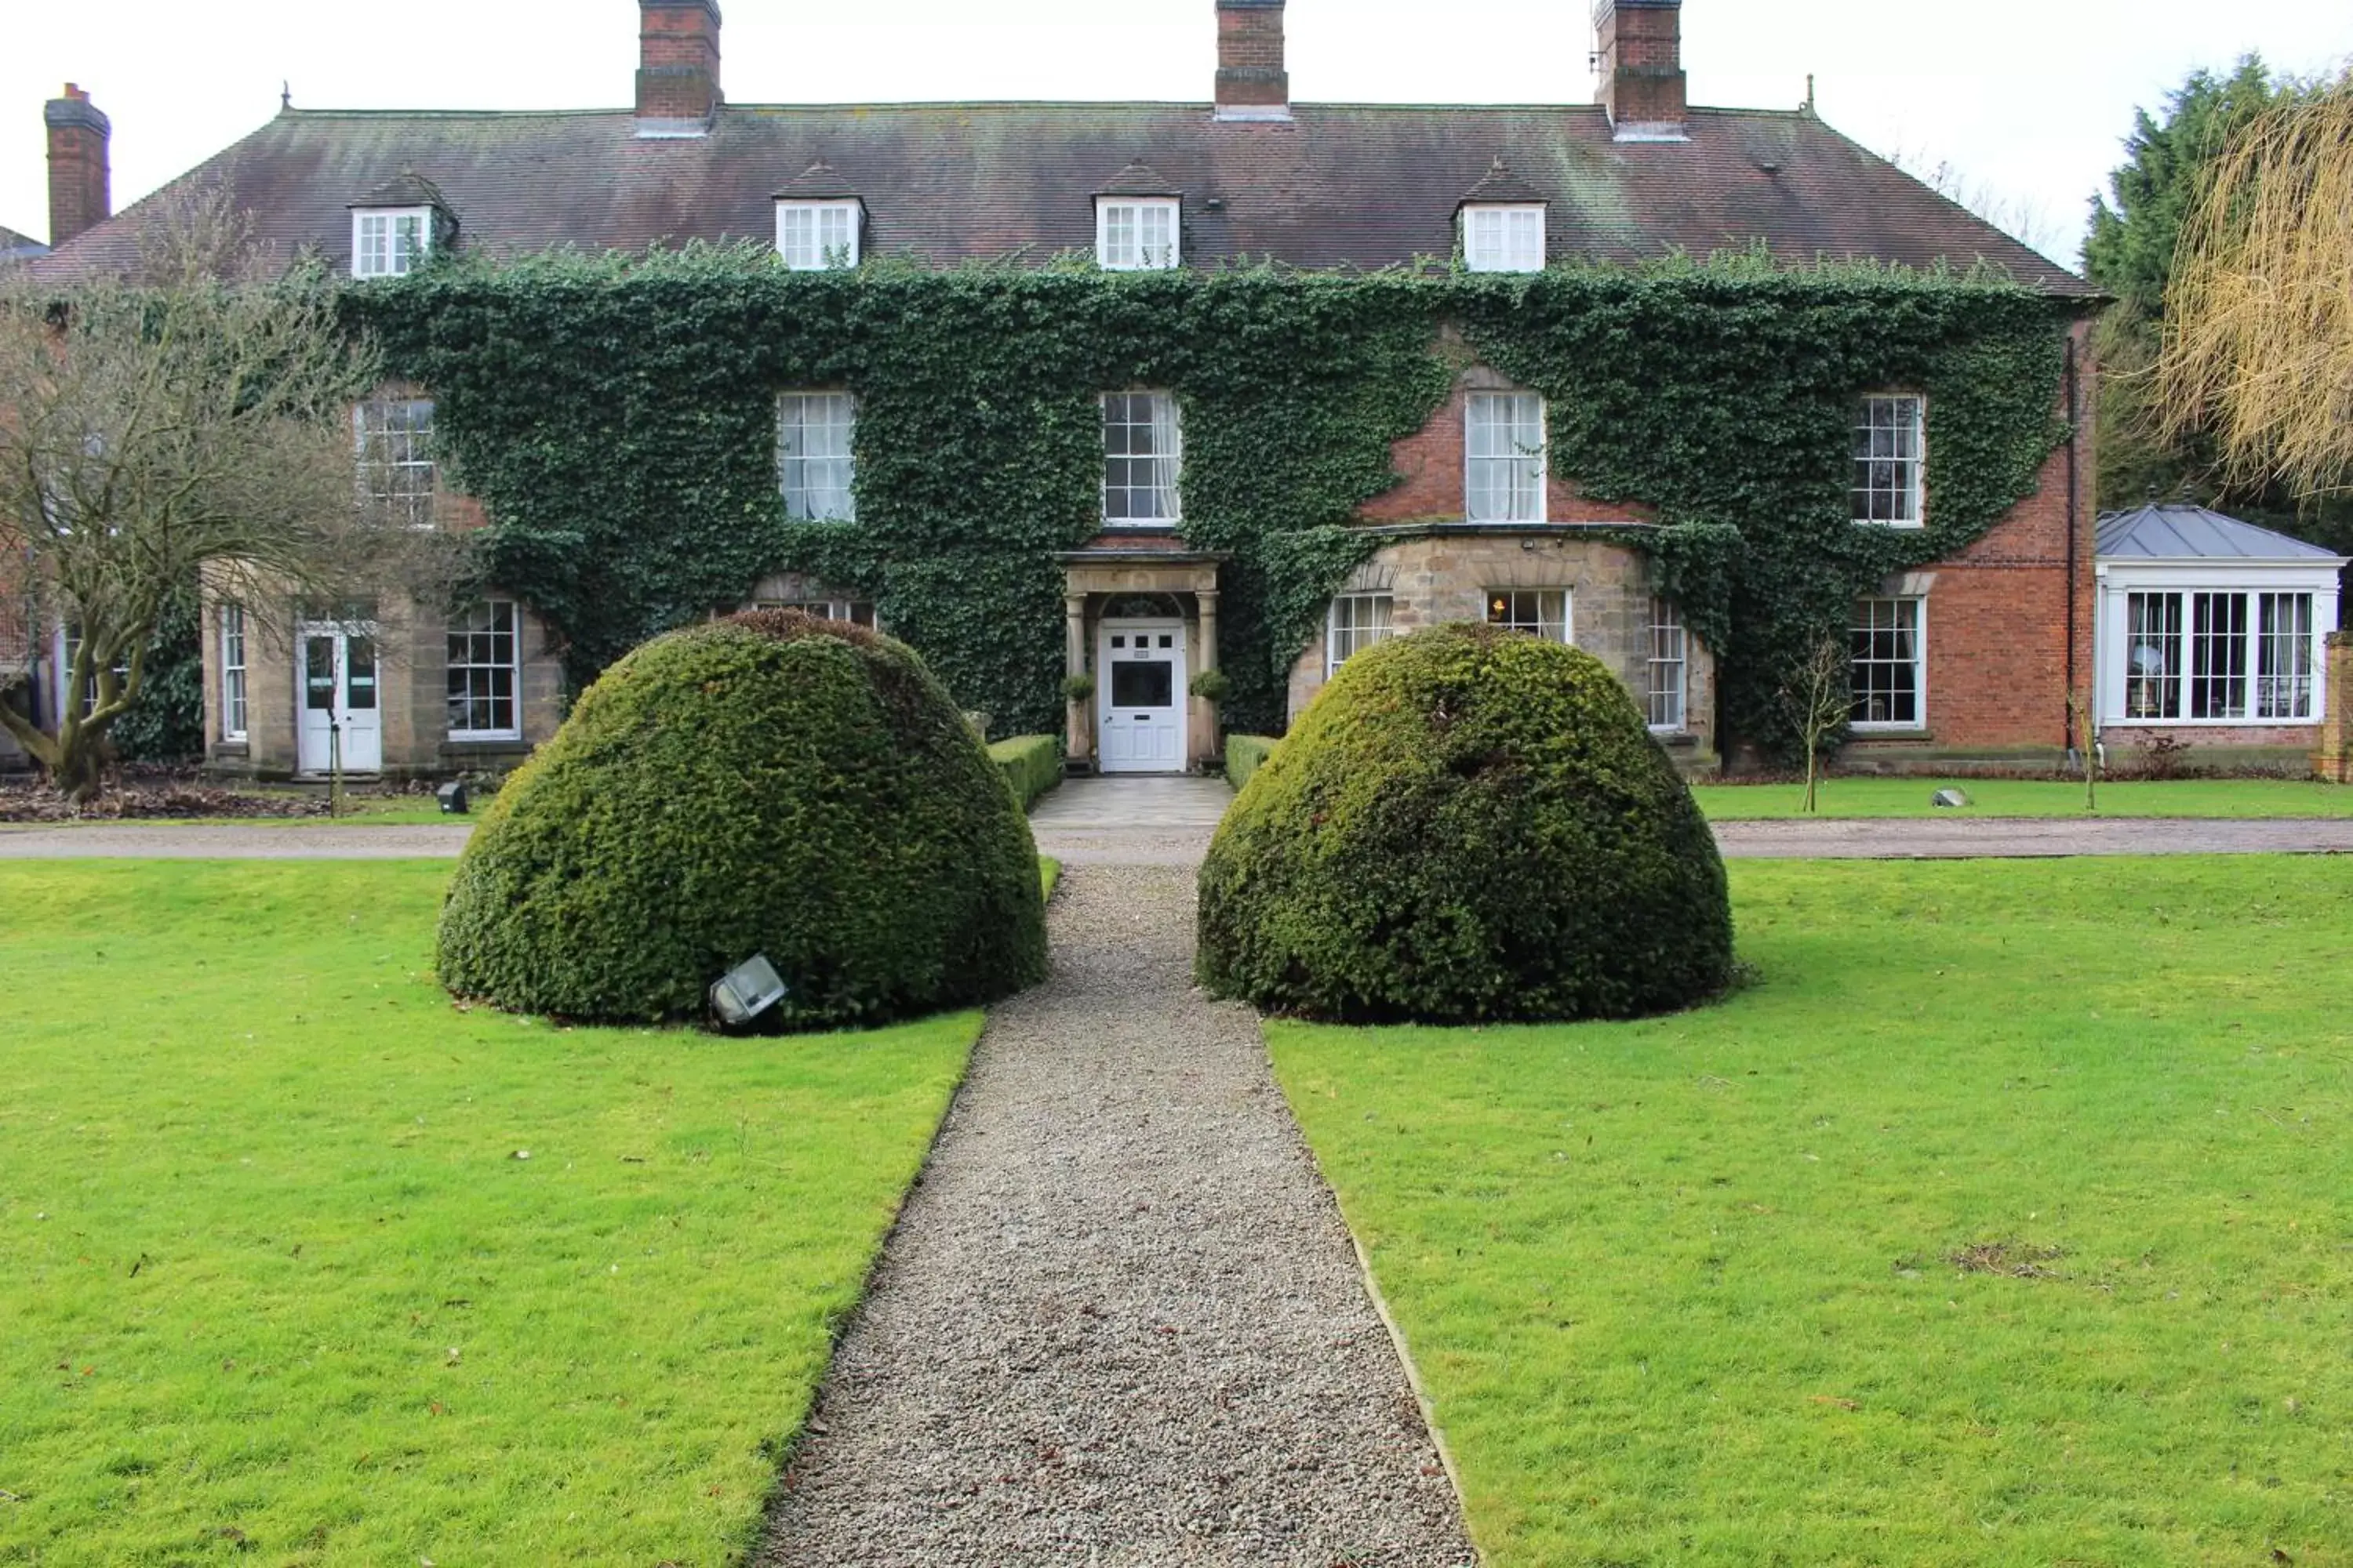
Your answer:
[[[1494,1568],[2353,1563],[2353,863],[1732,884],[1713,1011],[1268,1027]]]

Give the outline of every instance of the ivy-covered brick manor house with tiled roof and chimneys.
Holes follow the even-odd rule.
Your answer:
[[[1461,618],[1598,654],[1699,771],[1786,755],[1826,644],[1849,759],[2066,748],[2089,289],[1809,110],[1689,108],[1675,5],[1602,5],[1562,108],[1294,106],[1268,0],[1205,0],[1212,103],[732,106],[715,2],[642,12],[635,110],[289,110],[188,176],[353,275],[362,473],[482,545],[454,607],[207,604],[216,766],[311,771],[355,658],[365,762],[499,764],[751,602],[1104,769]]]

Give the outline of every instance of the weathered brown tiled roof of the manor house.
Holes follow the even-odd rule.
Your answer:
[[[1235,125],[1207,103],[729,103],[701,139],[640,139],[628,110],[287,110],[186,179],[233,179],[261,237],[341,263],[348,207],[412,172],[468,247],[633,252],[765,242],[774,193],[824,162],[866,202],[868,254],[953,263],[1092,249],[1094,195],[1144,165],[1184,197],[1188,263],[1379,268],[1449,254],[1464,195],[1499,158],[1551,205],[1553,261],[1762,242],[1788,261],[1991,261],[2035,289],[2094,294],[1800,110],[1697,108],[1680,143],[1619,143],[1595,106],[1301,103],[1287,122]],[[127,261],[148,212],[42,266]]]

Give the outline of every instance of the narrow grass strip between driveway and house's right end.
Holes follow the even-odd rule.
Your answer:
[[[1937,790],[1969,804],[1939,809]],[[1805,785],[1694,785],[1718,823],[1802,818]],[[2085,816],[2082,780],[2054,778],[1828,778],[1817,816]],[[2174,778],[2099,785],[2099,816],[2353,816],[2353,788],[2308,778]]]

